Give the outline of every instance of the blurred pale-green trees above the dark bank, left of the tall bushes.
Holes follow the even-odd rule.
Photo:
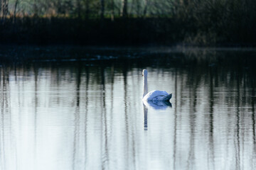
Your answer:
[[[71,18],[170,15],[171,0],[0,0],[1,15]],[[15,14],[15,15],[14,15]]]

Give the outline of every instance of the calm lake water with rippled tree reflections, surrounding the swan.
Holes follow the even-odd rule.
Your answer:
[[[256,169],[254,49],[0,49],[0,169]]]

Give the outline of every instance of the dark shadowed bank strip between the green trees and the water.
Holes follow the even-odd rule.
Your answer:
[[[6,18],[1,45],[118,45],[256,47],[256,33],[238,28],[200,28],[175,18]]]

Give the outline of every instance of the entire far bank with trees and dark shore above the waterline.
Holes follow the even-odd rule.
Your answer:
[[[0,4],[1,43],[256,43],[254,0],[0,0]]]

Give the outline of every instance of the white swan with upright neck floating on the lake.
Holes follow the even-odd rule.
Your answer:
[[[169,101],[172,94],[168,94],[166,91],[149,91],[147,88],[147,70],[143,69],[143,101]]]

